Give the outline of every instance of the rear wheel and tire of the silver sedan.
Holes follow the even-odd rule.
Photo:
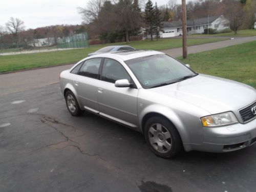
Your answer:
[[[78,116],[82,114],[75,95],[71,91],[67,91],[65,95],[67,108],[72,116]]]

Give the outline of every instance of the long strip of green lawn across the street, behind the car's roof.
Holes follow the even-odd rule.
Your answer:
[[[223,38],[210,39],[187,39],[187,45],[205,44],[225,40]],[[125,42],[116,44],[95,45],[86,49],[73,49],[65,51],[52,51],[31,54],[18,54],[0,56],[0,72],[9,72],[22,69],[31,69],[36,67],[47,67],[75,63],[80,59],[87,57],[88,53],[95,52],[98,49],[109,45],[126,45]],[[159,39],[158,41],[132,41],[129,44],[136,49],[163,50],[182,46],[182,39]]]

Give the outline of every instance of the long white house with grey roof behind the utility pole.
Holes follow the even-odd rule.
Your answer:
[[[204,29],[211,28],[217,31],[228,28],[226,25],[228,20],[221,16],[212,16],[205,18],[198,18],[194,20],[187,20],[187,34],[203,33]],[[182,22],[163,22],[163,32],[160,33],[160,37],[175,37],[182,35]]]

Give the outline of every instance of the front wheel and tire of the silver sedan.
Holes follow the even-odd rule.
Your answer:
[[[176,127],[165,118],[152,117],[148,119],[145,124],[144,136],[151,151],[159,157],[169,159],[183,149]]]

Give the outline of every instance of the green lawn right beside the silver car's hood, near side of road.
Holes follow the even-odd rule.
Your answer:
[[[178,59],[189,63],[198,73],[232,79],[256,88],[256,41]]]

